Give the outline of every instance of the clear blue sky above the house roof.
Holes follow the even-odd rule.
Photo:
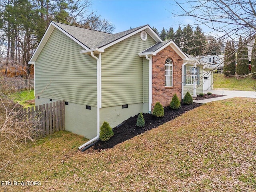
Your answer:
[[[163,27],[173,27],[176,31],[179,25],[183,28],[184,25],[195,24],[193,18],[172,17],[173,12],[181,12],[173,0],[92,0],[92,10],[114,24],[114,33],[145,24],[159,32]],[[204,26],[200,27],[208,32]]]

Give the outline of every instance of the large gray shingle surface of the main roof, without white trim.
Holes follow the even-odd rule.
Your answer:
[[[60,22],[53,22],[53,23],[59,26],[60,28],[62,28],[64,31],[66,31],[68,34],[70,34],[74,38],[76,38],[78,41],[80,41],[82,44],[84,44],[88,48],[101,48],[102,46],[110,44],[111,42],[114,42],[115,40],[118,40],[146,26],[144,25],[144,26],[126,30],[120,33],[110,34],[110,33],[105,33],[101,31],[82,28],[78,26],[68,25]]]

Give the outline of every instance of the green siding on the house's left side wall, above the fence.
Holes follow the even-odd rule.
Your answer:
[[[54,29],[35,62],[35,95],[97,106],[96,60]]]

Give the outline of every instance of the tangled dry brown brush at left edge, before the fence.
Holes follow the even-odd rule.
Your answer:
[[[0,170],[12,163],[14,151],[33,142],[34,122],[27,121],[22,106],[0,94]]]

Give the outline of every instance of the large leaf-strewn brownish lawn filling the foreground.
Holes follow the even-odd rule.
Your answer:
[[[101,152],[80,152],[86,142],[57,132],[16,152],[0,186],[6,191],[256,191],[256,100],[204,104]],[[1,188],[2,187],[2,188]]]

